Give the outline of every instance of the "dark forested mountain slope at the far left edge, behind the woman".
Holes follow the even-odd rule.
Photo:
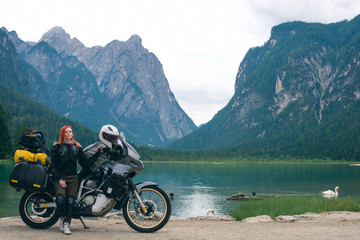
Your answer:
[[[29,74],[34,78],[27,78]],[[48,147],[51,147],[52,143],[58,140],[60,128],[70,125],[75,129],[76,139],[84,146],[96,141],[97,135],[89,128],[33,100],[41,98],[34,93],[42,92],[37,89],[37,85],[32,84],[31,81],[35,78],[40,81],[41,75],[18,56],[13,42],[0,30],[0,103],[11,116],[11,135],[14,136],[16,129],[24,127],[25,124],[41,130],[47,139]],[[28,81],[29,79],[32,80]]]

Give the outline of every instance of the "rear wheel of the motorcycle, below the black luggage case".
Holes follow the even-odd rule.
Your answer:
[[[50,193],[25,192],[19,204],[20,217],[29,227],[49,228],[59,219],[55,206]]]

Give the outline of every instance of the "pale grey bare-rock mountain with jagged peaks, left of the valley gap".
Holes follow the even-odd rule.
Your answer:
[[[59,27],[40,41],[57,52],[76,56],[96,77],[100,91],[111,103],[111,113],[137,139],[158,145],[179,139],[196,129],[177,103],[159,60],[133,35],[105,47],[86,48]],[[149,141],[150,140],[150,141]]]

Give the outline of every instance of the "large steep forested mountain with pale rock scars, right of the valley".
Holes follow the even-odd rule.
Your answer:
[[[172,149],[360,159],[360,15],[289,22],[250,49],[229,103]]]

